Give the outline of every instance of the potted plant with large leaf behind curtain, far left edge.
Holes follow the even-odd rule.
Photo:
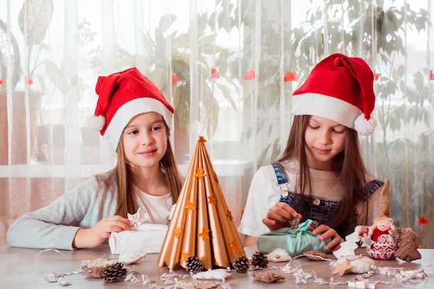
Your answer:
[[[24,44],[26,53],[23,57],[20,55],[17,37],[11,33],[10,41],[8,40],[5,21],[1,21],[1,81],[0,86],[0,164],[8,164],[8,112],[7,105],[7,87],[12,89],[12,164],[24,164],[28,159],[27,143],[30,143],[30,152],[37,152],[36,127],[39,116],[39,110],[42,104],[42,95],[45,91],[44,78],[35,75],[37,67],[42,64],[38,62],[40,52],[47,49],[42,43],[46,31],[49,28],[51,17],[53,15],[53,2],[51,0],[26,0],[21,6],[18,15],[18,24],[21,33],[24,35]],[[4,46],[6,44],[6,46]],[[8,44],[11,53],[8,53]],[[33,57],[32,57],[33,55]],[[11,85],[8,82],[8,58],[11,58],[12,80]],[[21,64],[24,69],[21,69]],[[17,89],[19,80],[24,78],[24,89]],[[37,80],[39,89],[32,89],[34,81]],[[33,87],[31,87],[33,86]],[[26,99],[28,95],[28,99]],[[26,114],[26,102],[28,102],[29,114]],[[26,119],[29,118],[29,119]],[[26,134],[27,124],[30,130]]]

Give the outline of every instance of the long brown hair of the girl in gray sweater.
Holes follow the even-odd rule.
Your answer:
[[[166,130],[168,132],[167,127]],[[126,218],[128,216],[127,213],[135,213],[138,208],[137,198],[132,189],[132,170],[125,159],[122,138],[121,135],[121,140],[119,141],[117,149],[117,164],[114,168],[118,184],[118,207],[116,208],[116,215]],[[172,201],[173,204],[175,204],[182,187],[183,177],[178,169],[169,137],[167,137],[166,153],[160,160],[160,165],[164,170],[166,182],[171,191]]]

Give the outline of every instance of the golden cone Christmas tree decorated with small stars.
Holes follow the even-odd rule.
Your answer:
[[[187,257],[196,256],[205,269],[227,268],[245,255],[205,142],[199,137],[159,252],[159,267],[186,268]]]

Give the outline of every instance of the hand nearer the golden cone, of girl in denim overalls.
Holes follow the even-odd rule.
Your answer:
[[[301,219],[302,215],[297,213],[289,204],[277,202],[273,207],[268,209],[267,216],[262,219],[262,222],[270,231],[276,231],[277,229],[290,227],[288,220],[293,220],[293,218]]]

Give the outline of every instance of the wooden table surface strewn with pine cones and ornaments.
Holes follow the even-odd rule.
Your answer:
[[[246,254],[251,256],[254,253],[254,248],[246,248]],[[405,272],[409,270],[422,271],[426,273],[423,279],[411,279],[406,283],[396,283],[394,277],[386,276],[380,272],[374,272],[372,277],[368,280],[376,283],[375,288],[434,288],[434,249],[419,249],[422,254],[422,259],[410,263],[401,261],[399,259],[392,261],[375,261],[377,268],[403,268]],[[357,252],[358,253],[358,252]],[[168,268],[159,268],[157,265],[158,254],[147,254],[144,259],[139,260],[134,265],[134,270],[137,272],[135,276],[139,278],[139,282],[132,283],[130,281],[119,281],[114,283],[105,283],[103,279],[96,279],[88,277],[82,271],[82,265],[85,261],[93,261],[98,258],[104,259],[117,259],[119,255],[112,255],[110,248],[107,245],[101,245],[96,249],[79,249],[76,251],[55,251],[55,250],[41,250],[41,249],[23,249],[10,247],[4,245],[0,247],[0,288],[1,289],[14,289],[14,288],[187,288],[187,285],[194,287],[193,282],[196,281],[189,277],[186,270],[175,270],[170,272]],[[330,259],[336,260],[333,255],[329,255]],[[288,268],[287,262],[269,263],[268,270],[263,272],[275,272],[284,280],[275,283],[266,283],[257,281],[252,277],[252,272],[232,274],[225,279],[225,283],[220,284],[218,288],[349,288],[347,281],[356,279],[356,274],[344,274],[340,277],[339,274],[332,274],[335,269],[329,261],[312,261],[302,257],[300,259],[302,269],[304,272],[312,272],[314,270],[318,278],[324,279],[327,282],[331,281],[332,284],[319,285],[315,283],[313,278],[306,280],[307,283],[296,284],[296,277],[293,273],[284,271]],[[128,265],[128,268],[133,268]],[[398,271],[400,269],[397,269]],[[67,273],[62,277],[61,282],[69,284],[69,286],[60,286],[60,283],[46,281],[46,277],[51,272],[58,274]],[[410,272],[410,271],[409,271]],[[75,274],[71,274],[75,273]],[[175,278],[173,274],[180,274],[177,276],[178,282],[182,285],[175,287]],[[143,276],[143,277],[142,277]],[[162,277],[166,276],[166,279]],[[144,283],[142,280],[152,281]],[[164,281],[168,282],[164,285]],[[383,281],[395,282],[392,284],[385,284]],[[207,281],[210,283],[210,281]],[[207,283],[205,282],[205,283]],[[222,283],[222,281],[212,281],[214,283]],[[196,281],[198,283],[198,281]],[[203,283],[203,281],[202,281]],[[178,283],[179,284],[179,283]],[[202,287],[205,288],[205,287]],[[366,287],[368,288],[368,287]]]

